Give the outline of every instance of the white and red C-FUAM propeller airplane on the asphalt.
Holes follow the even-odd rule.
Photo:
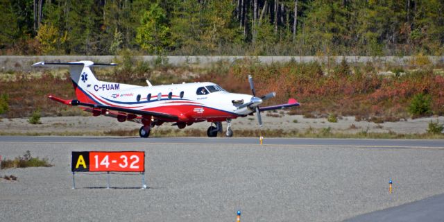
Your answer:
[[[208,137],[216,137],[222,132],[223,121],[227,122],[227,137],[232,137],[231,120],[246,117],[256,112],[259,125],[262,126],[260,112],[298,106],[296,99],[289,99],[287,104],[259,108],[259,105],[275,96],[275,92],[257,97],[253,79],[248,76],[253,96],[226,92],[214,83],[182,83],[148,86],[109,83],[97,80],[92,67],[115,66],[91,61],[54,63],[37,62],[33,67],[67,66],[76,90],[77,99],[65,100],[56,96],[49,99],[65,105],[78,105],[93,116],[105,115],[117,118],[119,122],[135,121],[143,124],[140,137],[148,137],[154,126],[173,123],[182,129],[196,122],[211,123],[207,130]],[[214,124],[214,126],[213,126]]]

